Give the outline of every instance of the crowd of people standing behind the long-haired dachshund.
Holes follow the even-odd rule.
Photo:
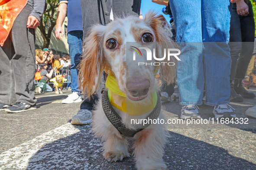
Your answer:
[[[175,25],[175,41],[181,49],[181,61],[177,66],[179,102],[182,106],[180,118],[200,119],[198,106],[203,101],[204,104],[213,106],[215,118],[236,118],[234,109],[229,105],[230,101],[243,102],[243,98],[255,98],[254,93],[243,87],[244,77],[253,74],[250,69],[252,65],[254,67],[255,61],[254,58],[252,59],[255,23],[250,0],[230,0],[230,2],[196,0],[193,3],[181,3],[180,0],[152,0],[152,2],[166,6],[167,14],[172,16],[172,24]],[[83,52],[82,43],[87,37],[89,28],[94,24],[107,25],[110,22],[111,9],[114,19],[123,15],[142,18],[141,0],[89,0],[89,3],[85,0],[60,0],[55,36],[59,40],[61,35],[64,36],[62,24],[67,16],[70,58],[67,55],[60,57],[48,48],[35,50],[33,38],[35,28],[39,25],[45,10],[44,3],[45,0],[29,0],[27,3],[26,0],[21,0],[23,9],[17,19],[23,22],[16,20],[13,22],[12,31],[0,47],[0,56],[5,59],[1,63],[10,66],[10,68],[5,67],[6,70],[0,74],[0,79],[6,79],[5,82],[0,82],[4,87],[0,90],[0,109],[5,109],[6,112],[16,113],[35,109],[35,71],[27,71],[32,70],[35,63],[39,64],[40,70],[37,71],[42,76],[36,92],[52,91],[52,87],[46,81],[55,76],[54,74],[59,74],[60,68],[70,67],[72,94],[62,103],[81,102],[78,64]],[[26,30],[28,34],[18,34],[22,30],[18,27],[24,27],[24,31]],[[12,38],[17,35],[25,37],[17,40]],[[16,42],[20,39],[26,39],[28,42]],[[16,63],[17,61],[23,63],[23,68]],[[24,75],[16,75],[16,69],[23,70]],[[188,73],[191,73],[189,77]],[[9,77],[6,78],[7,76]],[[19,81],[20,79],[22,81]],[[16,88],[18,81],[25,82],[24,85]],[[166,91],[162,93],[165,98],[172,95],[173,88],[173,85],[166,85],[162,91]],[[71,123],[80,125],[91,123],[91,111],[97,100],[96,93],[85,97]],[[256,107],[250,110],[253,111],[246,114],[256,117]]]

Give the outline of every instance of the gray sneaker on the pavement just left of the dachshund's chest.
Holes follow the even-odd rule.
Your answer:
[[[87,125],[91,123],[92,113],[90,110],[78,110],[77,115],[72,117],[71,124],[73,125]]]

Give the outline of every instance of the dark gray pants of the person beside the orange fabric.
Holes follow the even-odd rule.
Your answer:
[[[27,28],[32,9],[30,5],[24,7],[3,47],[0,47],[0,103],[3,104],[36,103],[35,29]]]

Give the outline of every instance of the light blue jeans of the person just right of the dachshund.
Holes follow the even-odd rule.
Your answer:
[[[230,98],[229,0],[170,0],[181,49],[180,104],[228,104]],[[185,10],[184,10],[185,9]],[[218,43],[217,43],[218,42]]]

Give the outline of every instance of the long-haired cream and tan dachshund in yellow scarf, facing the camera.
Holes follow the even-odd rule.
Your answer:
[[[162,58],[164,50],[177,48],[171,41],[169,31],[163,28],[164,25],[165,19],[162,15],[158,16],[154,12],[149,12],[144,19],[128,16],[124,19],[116,19],[107,26],[95,25],[85,39],[83,60],[79,72],[81,86],[85,94],[90,96],[97,90],[101,72],[105,71],[109,76],[108,79],[111,78],[111,80],[107,79],[109,86],[106,82],[107,88],[103,90],[107,91],[107,100],[110,101],[111,99],[110,104],[113,110],[120,116],[121,122],[127,129],[138,129],[140,126],[132,123],[131,120],[146,119],[152,113],[154,108],[147,107],[152,106],[151,104],[154,103],[153,96],[159,90],[155,83],[156,72],[159,68],[161,77],[168,83],[172,82],[175,78],[177,59],[169,57],[168,60],[166,57],[164,60],[158,61],[152,57],[152,60],[148,61],[146,50],[140,50],[141,55],[138,55],[137,52],[139,51],[133,53],[135,50],[130,46],[126,47],[128,44],[126,42],[157,47],[158,50],[156,50],[155,55]],[[156,42],[161,43],[156,44]],[[133,54],[137,55],[136,60],[133,60]],[[159,64],[156,66],[141,64],[138,66],[138,62],[172,62],[174,66],[167,64],[160,66],[157,66]],[[117,91],[115,92],[115,90]],[[114,104],[112,104],[113,101]],[[128,142],[126,137],[110,123],[110,118],[104,113],[103,102],[106,101],[100,99],[93,111],[92,131],[104,141],[104,158],[110,162],[121,161],[125,157],[130,157],[127,148]],[[126,103],[124,104],[124,102]],[[126,111],[123,110],[123,104],[126,105]],[[140,107],[145,108],[146,112],[138,113]],[[162,110],[158,118],[164,119]],[[164,124],[152,123],[134,135],[136,142],[133,146],[133,154],[137,169],[158,170],[166,168],[162,156],[168,134]]]

